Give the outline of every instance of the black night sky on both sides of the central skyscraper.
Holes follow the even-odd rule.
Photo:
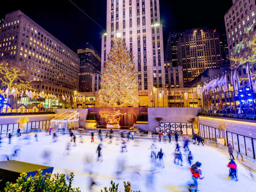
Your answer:
[[[106,0],[72,0],[99,25],[106,29]],[[146,0],[147,1],[147,0]],[[163,24],[163,45],[170,30],[209,28],[224,24],[224,15],[232,0],[159,0]],[[104,30],[84,15],[69,0],[4,1],[0,18],[21,10],[46,31],[76,52],[81,44],[91,43],[101,52],[101,34]]]

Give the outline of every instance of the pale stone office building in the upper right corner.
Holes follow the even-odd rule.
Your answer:
[[[247,56],[248,42],[245,35],[255,29],[255,0],[233,0],[233,5],[224,16],[229,56]]]

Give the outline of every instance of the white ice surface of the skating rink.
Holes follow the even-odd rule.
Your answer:
[[[183,166],[173,163],[173,151],[176,147],[174,142],[155,142],[158,151],[162,148],[164,153],[165,167],[162,168],[156,167],[155,162],[151,160],[150,146],[152,142],[148,140],[129,140],[127,142],[128,152],[120,153],[120,139],[113,138],[112,144],[109,144],[109,138],[104,139],[101,150],[103,161],[97,162],[96,150],[100,143],[97,137],[94,137],[94,143],[91,143],[89,136],[83,136],[83,143],[80,143],[81,138],[76,135],[77,146],[73,147],[73,143],[71,143],[69,154],[65,151],[67,143],[70,141],[68,134],[58,134],[57,142],[54,143],[52,135],[46,135],[45,132],[38,134],[38,142],[35,141],[34,133],[30,134],[30,139],[24,139],[25,137],[25,134],[20,138],[14,135],[11,144],[8,144],[8,139],[2,138],[0,160],[4,161],[5,154],[11,155],[16,148],[20,148],[20,153],[15,157],[15,160],[53,166],[53,173],[74,172],[75,178],[72,187],[80,187],[82,192],[90,191],[90,178],[97,182],[97,185],[94,185],[91,190],[93,192],[100,192],[103,187],[109,187],[111,180],[119,183],[120,191],[124,189],[123,181],[130,181],[132,190],[140,190],[141,192],[187,192],[187,184],[192,182],[187,152],[183,149],[183,142],[179,142],[184,161]],[[255,191],[255,175],[251,177],[249,171],[239,163],[237,163],[239,180],[230,180],[228,179],[229,168],[227,167],[229,158],[211,147],[189,144],[189,148],[193,155],[192,163],[196,161],[202,163],[200,169],[204,179],[197,180],[198,191]],[[43,155],[45,151],[49,152],[47,157]],[[90,172],[91,174],[89,174]]]

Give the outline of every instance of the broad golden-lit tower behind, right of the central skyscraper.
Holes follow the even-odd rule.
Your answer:
[[[222,65],[219,33],[206,27],[186,30],[178,40],[178,64],[184,84],[211,67]]]

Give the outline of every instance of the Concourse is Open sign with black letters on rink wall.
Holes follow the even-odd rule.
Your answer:
[[[180,135],[193,135],[193,125],[192,123],[170,123],[170,122],[160,122],[159,123],[160,131],[164,131],[168,134],[178,133]]]

